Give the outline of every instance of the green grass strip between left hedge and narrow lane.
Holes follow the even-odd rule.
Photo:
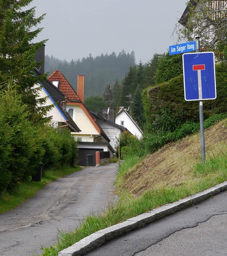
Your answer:
[[[27,181],[18,183],[17,186],[9,193],[1,194],[0,214],[16,208],[28,198],[33,197],[41,188],[58,178],[66,176],[72,172],[81,170],[80,167],[62,167],[59,169],[48,169],[43,171],[41,182]]]

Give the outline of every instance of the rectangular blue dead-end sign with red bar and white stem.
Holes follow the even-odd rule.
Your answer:
[[[184,53],[183,74],[185,100],[216,99],[213,52]]]

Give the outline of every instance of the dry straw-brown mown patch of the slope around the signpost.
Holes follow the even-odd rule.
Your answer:
[[[205,130],[206,160],[225,156],[226,142],[227,120],[222,120]],[[134,197],[138,197],[149,189],[185,184],[189,179],[196,177],[196,168],[199,168],[200,163],[200,133],[196,133],[148,155],[124,172],[117,184],[118,187],[126,188]]]

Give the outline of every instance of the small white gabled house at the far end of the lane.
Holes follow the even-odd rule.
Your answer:
[[[120,107],[118,113],[115,116],[115,123],[121,126],[124,126],[131,132],[131,134],[135,135],[140,139],[143,136],[142,130],[139,128],[137,123],[133,120],[133,118],[128,114],[124,107]]]

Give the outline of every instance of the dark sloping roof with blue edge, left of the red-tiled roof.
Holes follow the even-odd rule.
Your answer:
[[[35,68],[34,69],[35,75],[39,76],[41,73]],[[53,85],[49,80],[45,80],[44,82],[40,83],[45,88],[46,92],[52,98],[54,103],[57,105],[59,111],[66,117],[68,126],[74,132],[81,131],[76,123],[72,120],[71,116],[61,108],[61,102],[65,100],[65,94],[63,94],[55,85]]]

